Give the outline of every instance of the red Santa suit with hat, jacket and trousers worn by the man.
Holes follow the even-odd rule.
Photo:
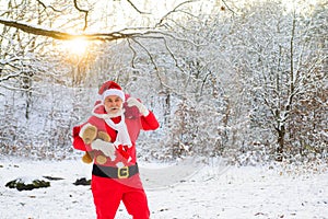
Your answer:
[[[108,90],[113,83],[117,85],[112,81],[109,85],[108,83],[108,81],[104,83],[108,87],[105,89],[103,84],[99,94],[104,93],[102,89]],[[155,130],[159,128],[159,123],[151,111],[148,115],[141,115],[136,108],[129,108],[127,105],[125,105],[125,111],[121,116],[106,118],[105,107],[99,104],[89,119],[90,124],[106,131],[112,142],[118,142],[115,145],[114,158],[105,157],[102,151],[94,151],[91,186],[97,219],[114,219],[121,200],[133,219],[149,219],[150,217],[137,165],[136,141],[140,130]],[[79,135],[84,125],[73,128],[73,147],[78,150],[91,151],[93,150],[91,145],[85,145]],[[125,131],[128,136],[121,135]]]

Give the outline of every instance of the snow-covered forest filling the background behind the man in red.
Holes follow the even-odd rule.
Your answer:
[[[328,161],[324,0],[0,0],[0,153],[69,159],[115,80],[161,124],[143,160]]]

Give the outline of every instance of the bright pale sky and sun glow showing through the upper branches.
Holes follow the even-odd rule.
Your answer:
[[[127,0],[95,0],[92,9],[83,5],[81,5],[81,8],[91,10],[86,32],[110,33],[113,31],[120,31],[127,27],[154,26],[162,16],[185,1],[186,0],[131,0],[134,7],[137,7],[141,12],[144,12],[144,14],[141,14],[133,9]],[[226,0],[225,3],[234,9],[243,8],[249,4],[249,2],[265,1],[267,0]],[[296,12],[308,13],[313,10],[313,5],[320,1],[323,0],[282,0],[281,3],[286,8],[286,12],[296,10]],[[201,11],[204,13],[211,13],[214,5],[224,5],[223,2],[216,0],[196,0],[195,2],[202,3]],[[235,2],[235,4],[233,2]],[[194,8],[199,11],[199,4],[192,3],[190,5],[194,5]],[[81,25],[78,26],[79,31],[81,31]],[[75,31],[72,30],[71,33],[75,33]],[[67,45],[71,53],[77,55],[83,54],[87,47],[87,43],[81,39],[69,42]]]

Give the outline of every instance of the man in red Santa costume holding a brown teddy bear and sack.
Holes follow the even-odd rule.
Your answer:
[[[92,154],[92,193],[98,219],[115,218],[120,200],[134,219],[150,211],[137,165],[136,141],[140,130],[155,130],[154,114],[139,100],[124,93],[114,81],[99,91],[92,116],[73,128],[73,147]]]

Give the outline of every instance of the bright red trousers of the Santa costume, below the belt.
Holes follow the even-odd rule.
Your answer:
[[[133,219],[149,219],[148,200],[139,174],[125,180],[92,175],[91,187],[97,219],[114,219],[120,200]]]

